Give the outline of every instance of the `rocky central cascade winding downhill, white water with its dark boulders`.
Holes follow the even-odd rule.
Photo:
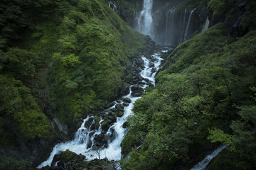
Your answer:
[[[163,51],[166,52],[166,51]],[[132,115],[132,108],[134,103],[142,97],[140,94],[135,95],[134,89],[142,89],[142,92],[146,90],[147,86],[155,85],[155,75],[159,70],[161,64],[161,53],[157,52],[150,58],[142,56],[144,61],[144,67],[139,73],[142,82],[140,84],[133,84],[129,87],[129,94],[123,96],[121,99],[114,101],[114,105],[102,112],[100,121],[97,125],[95,116],[87,116],[83,120],[82,125],[75,132],[75,137],[65,143],[59,143],[55,145],[50,157],[40,164],[37,168],[41,169],[43,166],[50,166],[53,162],[55,154],[59,154],[67,149],[76,154],[85,155],[87,161],[99,158],[104,159],[107,157],[109,160],[121,159],[121,147],[120,144],[127,133],[127,129],[124,128],[124,123],[127,121],[127,117]],[[154,62],[152,62],[154,61]],[[123,107],[122,115],[114,115],[112,111],[117,111]],[[114,118],[114,123],[109,125],[106,129],[106,123]],[[107,118],[107,119],[106,119]]]

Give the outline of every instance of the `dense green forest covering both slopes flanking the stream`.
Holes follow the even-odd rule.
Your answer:
[[[83,118],[124,96],[134,60],[161,47],[130,27],[142,0],[114,1],[117,10],[110,2],[0,2],[0,169],[36,169]],[[127,118],[118,164],[191,169],[226,145],[206,169],[256,169],[256,2],[158,3],[202,9],[210,26],[162,52],[156,86]],[[73,169],[114,169],[70,151],[62,159],[75,160]]]

